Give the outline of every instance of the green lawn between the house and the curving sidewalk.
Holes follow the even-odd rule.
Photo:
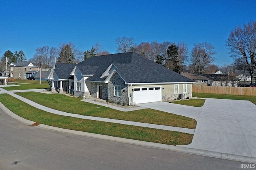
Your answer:
[[[154,109],[124,112],[111,109],[109,107],[82,102],[80,101],[80,98],[74,98],[62,94],[42,94],[39,92],[21,92],[16,94],[43,106],[68,113],[190,129],[196,128],[196,120],[194,119]]]

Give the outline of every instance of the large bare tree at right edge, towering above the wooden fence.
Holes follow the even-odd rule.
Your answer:
[[[231,57],[243,57],[251,76],[251,86],[254,86],[256,70],[256,21],[250,21],[243,26],[238,25],[230,31],[226,40]]]

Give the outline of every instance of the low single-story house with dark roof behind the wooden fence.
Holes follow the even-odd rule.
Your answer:
[[[198,86],[232,86],[237,87],[240,79],[228,74],[198,74],[183,72],[181,75],[190,78]]]

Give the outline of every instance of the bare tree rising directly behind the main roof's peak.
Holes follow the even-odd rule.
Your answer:
[[[118,37],[116,39],[116,45],[117,49],[116,51],[118,53],[129,53],[133,52],[136,49],[136,44],[134,43],[134,38],[130,37],[127,38],[126,36],[124,37]]]

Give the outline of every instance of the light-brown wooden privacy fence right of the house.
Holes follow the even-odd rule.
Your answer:
[[[192,93],[233,94],[256,96],[256,88],[224,86],[192,86]]]

